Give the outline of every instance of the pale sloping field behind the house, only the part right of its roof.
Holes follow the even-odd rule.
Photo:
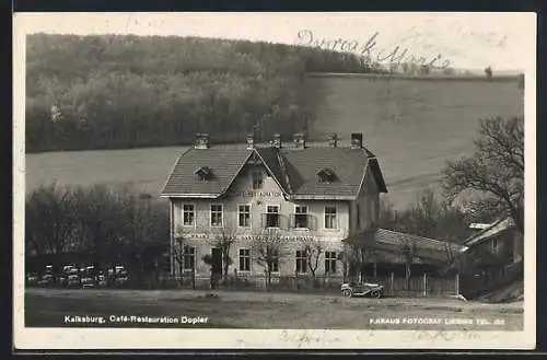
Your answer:
[[[314,135],[333,131],[347,139],[353,131],[363,132],[397,207],[437,182],[447,159],[473,152],[479,118],[524,112],[516,78],[310,74],[307,81]]]

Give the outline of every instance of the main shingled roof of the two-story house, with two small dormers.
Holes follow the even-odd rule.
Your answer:
[[[387,193],[377,160],[366,149],[212,146],[184,152],[177,159],[161,196],[217,198],[229,189],[254,153],[263,160],[288,198],[354,199],[368,169],[380,191]],[[207,182],[199,181],[195,175],[197,169],[205,166],[211,171],[211,178]],[[318,182],[317,172],[325,167],[336,174],[336,181]]]

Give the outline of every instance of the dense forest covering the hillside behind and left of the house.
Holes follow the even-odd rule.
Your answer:
[[[26,151],[241,141],[305,131],[305,72],[381,72],[357,55],[246,40],[27,36]]]

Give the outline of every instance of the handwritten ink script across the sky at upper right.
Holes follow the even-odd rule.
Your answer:
[[[385,62],[391,65],[408,63],[440,69],[447,69],[452,65],[452,61],[449,59],[442,60],[443,56],[441,54],[438,54],[433,58],[427,58],[423,56],[417,57],[410,54],[408,48],[401,49],[398,45],[391,50],[377,48],[376,40],[380,36],[379,32],[369,37],[364,44],[358,40],[347,40],[342,38],[331,40],[317,38],[310,30],[301,30],[296,36],[296,45],[317,47],[331,51],[358,54],[365,59],[369,65]]]

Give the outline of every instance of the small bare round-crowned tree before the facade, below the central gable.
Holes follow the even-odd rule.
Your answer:
[[[271,272],[278,271],[279,262],[289,255],[287,241],[277,229],[264,229],[253,236],[251,244],[254,260],[263,266],[267,275],[267,284],[271,284]]]

